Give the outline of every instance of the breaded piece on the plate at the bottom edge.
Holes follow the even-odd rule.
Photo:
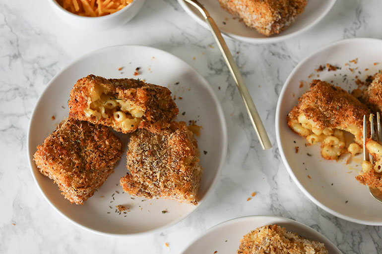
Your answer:
[[[328,254],[328,251],[323,243],[310,241],[274,224],[243,236],[237,254]]]

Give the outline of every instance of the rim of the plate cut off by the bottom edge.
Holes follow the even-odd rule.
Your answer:
[[[315,231],[318,235],[320,235],[322,238],[324,238],[325,240],[327,240],[331,245],[332,247],[334,247],[335,249],[337,249],[337,251],[339,253],[342,253],[337,246],[335,246],[329,239],[327,239],[326,236],[322,235],[321,233],[319,233],[317,230],[305,225],[304,223],[302,222],[299,222],[299,221],[296,221],[296,220],[293,220],[293,219],[289,219],[289,218],[285,218],[285,217],[281,217],[281,216],[273,216],[273,215],[261,215],[261,214],[258,214],[258,215],[248,215],[248,216],[241,216],[241,217],[237,217],[237,218],[232,218],[232,219],[229,219],[229,220],[226,220],[226,221],[222,221],[206,230],[204,230],[203,232],[201,232],[197,237],[195,237],[184,249],[182,249],[182,251],[180,252],[180,254],[185,254],[185,252],[194,244],[196,243],[199,239],[203,238],[204,236],[208,235],[209,233],[211,233],[212,231],[214,231],[215,229],[219,229],[221,227],[224,227],[226,225],[229,225],[229,224],[234,224],[236,221],[241,221],[241,220],[248,220],[248,219],[255,219],[255,218],[267,218],[267,219],[283,219],[283,220],[287,220],[289,222],[292,222],[292,223],[295,223],[297,225],[301,225],[303,226],[304,228],[309,228],[309,230],[313,230]]]

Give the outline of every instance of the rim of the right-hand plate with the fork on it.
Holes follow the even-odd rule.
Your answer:
[[[370,225],[370,226],[382,226],[382,220],[380,222],[376,222],[376,221],[370,221],[370,220],[361,220],[361,219],[357,219],[357,218],[353,218],[353,217],[350,217],[350,216],[347,216],[347,215],[343,215],[329,207],[327,207],[326,205],[324,205],[323,203],[320,203],[312,194],[310,194],[306,189],[305,187],[300,183],[300,181],[297,179],[296,175],[293,173],[293,170],[292,168],[290,167],[289,163],[288,163],[288,160],[286,159],[285,157],[285,153],[282,149],[282,146],[281,146],[281,140],[280,140],[280,110],[281,110],[281,101],[282,99],[284,98],[285,96],[285,91],[286,91],[286,88],[288,87],[288,83],[290,83],[290,80],[292,79],[292,77],[295,75],[295,73],[298,71],[298,69],[305,64],[305,62],[307,62],[312,56],[318,54],[319,52],[322,52],[322,51],[325,51],[331,47],[335,47],[339,44],[343,44],[343,43],[352,43],[354,41],[378,41],[379,43],[382,44],[382,40],[380,39],[375,39],[375,38],[367,38],[367,37],[360,37],[360,38],[349,38],[349,39],[341,39],[341,40],[338,40],[338,41],[334,41],[334,42],[331,42],[331,43],[328,43],[318,49],[316,49],[315,51],[309,53],[306,57],[304,57],[302,60],[300,60],[300,62],[293,68],[292,72],[289,74],[288,78],[286,79],[282,89],[281,89],[281,92],[280,92],[280,95],[279,95],[279,98],[277,100],[277,106],[276,106],[276,114],[275,114],[275,133],[276,133],[276,141],[277,141],[277,147],[280,151],[280,155],[281,155],[281,159],[282,159],[282,162],[285,166],[285,168],[287,169],[290,177],[293,179],[293,182],[299,187],[300,191],[302,191],[305,196],[307,196],[313,203],[315,203],[316,205],[318,205],[320,208],[322,208],[323,210],[325,210],[326,212],[338,217],[338,218],[341,218],[341,219],[344,219],[344,220],[347,220],[347,221],[350,221],[350,222],[354,222],[354,223],[358,223],[358,224],[363,224],[363,225]]]

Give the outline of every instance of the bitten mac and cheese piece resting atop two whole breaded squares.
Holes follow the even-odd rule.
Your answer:
[[[106,79],[89,75],[70,92],[71,117],[129,133],[170,126],[179,110],[168,88],[135,79]]]

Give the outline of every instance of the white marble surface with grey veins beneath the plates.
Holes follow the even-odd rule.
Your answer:
[[[239,52],[235,58],[274,145],[263,152],[210,32],[176,0],[147,0],[129,23],[100,33],[68,27],[47,0],[0,0],[0,253],[178,254],[205,229],[253,214],[302,222],[344,254],[382,253],[382,227],[338,219],[300,192],[281,162],[274,132],[278,95],[293,67],[333,41],[382,39],[381,9],[380,0],[338,0],[323,21],[298,38],[270,45],[227,40],[231,51]],[[64,219],[36,187],[26,155],[30,114],[49,80],[76,57],[120,44],[169,51],[197,69],[223,106],[229,136],[227,161],[213,194],[177,225],[133,238],[101,236]],[[247,202],[252,192],[257,195]]]

